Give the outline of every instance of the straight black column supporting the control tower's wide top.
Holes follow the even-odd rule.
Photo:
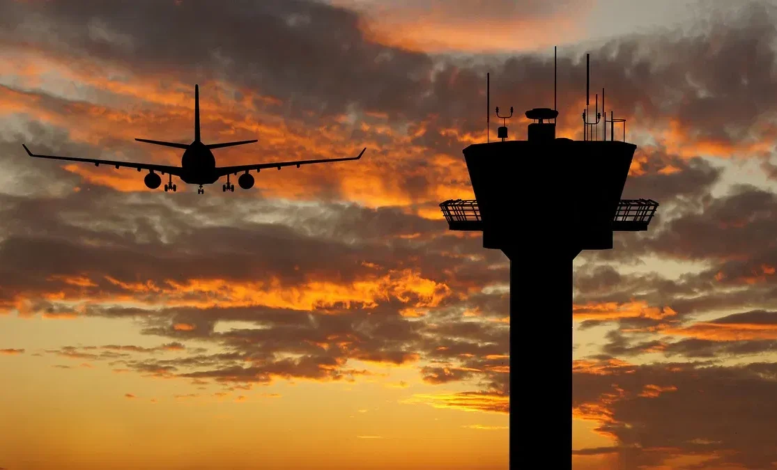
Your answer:
[[[509,436],[510,449],[516,449],[510,451],[510,468],[537,458],[543,468],[572,468],[569,252],[558,247],[503,252],[510,258]]]

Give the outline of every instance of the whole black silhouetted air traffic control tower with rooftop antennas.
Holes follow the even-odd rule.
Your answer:
[[[636,145],[596,101],[582,141],[557,138],[558,111],[535,108],[526,140],[507,140],[504,124],[500,141],[465,148],[476,200],[440,204],[451,230],[481,231],[483,248],[510,259],[510,468],[571,468],[573,260],[611,249],[613,232],[646,230],[658,207],[621,199]]]

